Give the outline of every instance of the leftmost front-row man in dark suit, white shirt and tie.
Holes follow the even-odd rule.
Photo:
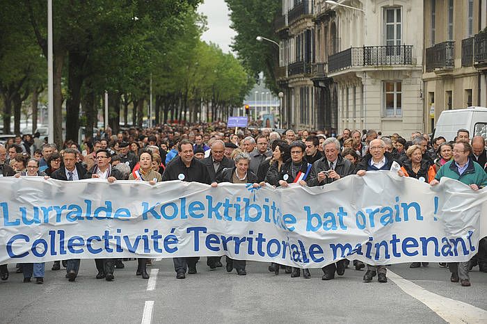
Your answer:
[[[86,172],[81,163],[76,163],[78,151],[76,149],[65,149],[63,154],[63,165],[52,172],[51,178],[62,181],[77,181],[88,179],[91,176]],[[78,275],[80,259],[69,259],[66,261],[66,278],[74,282]]]

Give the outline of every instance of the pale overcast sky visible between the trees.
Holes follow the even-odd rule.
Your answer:
[[[232,51],[230,44],[235,31],[230,29],[230,17],[227,4],[224,0],[205,0],[198,12],[207,16],[208,30],[201,39],[205,42],[214,42],[220,45],[224,53]]]

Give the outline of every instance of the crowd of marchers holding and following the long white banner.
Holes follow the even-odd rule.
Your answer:
[[[487,185],[486,143],[459,129],[449,142],[442,136],[429,138],[425,133],[412,133],[402,138],[394,133],[344,129],[337,138],[327,138],[323,131],[288,129],[285,133],[271,129],[241,129],[234,133],[224,123],[179,125],[165,124],[150,129],[131,128],[112,135],[98,133],[81,145],[68,140],[63,147],[40,140],[39,134],[17,136],[0,145],[0,176],[51,177],[63,181],[102,178],[109,183],[123,180],[197,181],[211,186],[222,182],[253,186],[287,187],[326,186],[349,175],[364,176],[369,171],[396,170],[401,177],[413,177],[435,186],[442,177],[457,179],[478,191]],[[198,257],[175,258],[176,277],[184,279],[197,272]],[[136,275],[149,278],[150,259],[138,259]],[[226,257],[226,270],[246,275],[246,262]],[[79,259],[55,261],[51,270],[66,268],[66,278],[74,282],[79,272]],[[97,279],[114,279],[115,268],[123,268],[121,259],[96,259]],[[208,257],[210,270],[222,267],[221,257]],[[356,270],[366,268],[364,282],[387,282],[385,266],[371,266],[353,260]],[[429,266],[414,262],[410,268]],[[479,266],[487,273],[487,237],[469,262],[440,264],[448,267],[452,282],[470,286],[469,271]],[[344,275],[349,260],[343,259],[323,268],[323,280]],[[310,278],[308,269],[271,264],[269,271],[280,270],[291,277]],[[34,277],[42,284],[45,264],[17,264],[24,282]],[[8,279],[7,265],[0,266],[0,279]]]

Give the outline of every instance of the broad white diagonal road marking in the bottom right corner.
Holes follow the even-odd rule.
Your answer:
[[[448,323],[486,323],[487,311],[484,309],[431,293],[389,269],[388,278],[405,293],[422,302]]]

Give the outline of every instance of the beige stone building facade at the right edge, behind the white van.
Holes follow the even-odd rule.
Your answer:
[[[487,0],[424,0],[424,120],[487,106]]]

